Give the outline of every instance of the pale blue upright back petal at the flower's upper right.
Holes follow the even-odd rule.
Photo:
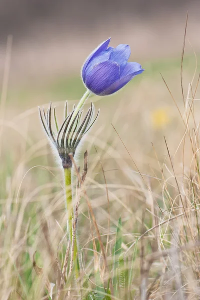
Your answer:
[[[126,44],[118,45],[111,53],[110,60],[114,60],[120,65],[120,73],[123,72],[130,54],[131,54],[131,48],[129,45]]]

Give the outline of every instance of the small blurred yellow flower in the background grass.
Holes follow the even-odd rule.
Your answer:
[[[170,122],[169,108],[157,108],[151,112],[151,120],[155,129],[165,127]]]

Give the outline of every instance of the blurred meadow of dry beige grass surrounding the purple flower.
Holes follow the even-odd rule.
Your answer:
[[[85,289],[98,290],[88,299],[111,299],[107,286],[118,259],[119,291],[112,299],[200,299],[200,3],[152,1],[143,10],[144,1],[126,0],[123,9],[117,1],[111,13],[104,1],[92,7],[90,1],[77,7],[58,2],[35,1],[35,14],[33,3],[26,7],[21,0],[21,10],[1,3],[0,299],[50,299],[45,278],[58,284],[55,261],[62,269],[68,244],[63,173],[38,105],[52,101],[61,123],[65,101],[72,109],[85,92],[85,58],[109,36],[112,46],[130,44],[129,60],[145,71],[116,94],[92,95],[84,108],[90,101],[100,108],[77,156],[82,172],[88,151],[84,188],[109,272],[82,195],[80,281],[87,278]],[[108,9],[104,16],[100,8]],[[74,193],[76,180],[74,170]],[[126,270],[128,287],[120,281],[126,282]],[[70,280],[68,298],[87,299]],[[52,299],[65,297],[55,292]]]

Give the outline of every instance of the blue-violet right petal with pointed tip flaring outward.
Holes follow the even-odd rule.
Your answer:
[[[133,79],[133,77],[135,77],[138,74],[141,74],[144,70],[145,69],[143,69],[138,62],[128,62],[124,68],[122,75],[120,76],[120,79],[114,82],[112,85],[110,85],[106,90],[104,90],[104,93],[106,95],[110,95],[118,91],[131,79]]]

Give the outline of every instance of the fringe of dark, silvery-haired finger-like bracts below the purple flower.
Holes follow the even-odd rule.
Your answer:
[[[48,135],[49,139],[51,140],[52,144],[56,147],[58,154],[62,160],[63,168],[71,168],[72,167],[72,160],[70,158],[70,153],[72,155],[75,154],[75,150],[85,135],[85,133],[91,128],[93,123],[98,117],[99,111],[94,118],[94,105],[91,103],[90,108],[88,109],[84,119],[81,122],[81,114],[80,110],[74,115],[75,106],[72,112],[67,114],[67,102],[65,105],[65,119],[60,126],[58,127],[55,107],[54,107],[54,122],[55,122],[55,131],[52,130],[52,122],[51,122],[51,103],[50,107],[47,109],[47,113],[43,108],[43,115],[42,111],[39,107],[39,114],[42,125],[46,134]]]

